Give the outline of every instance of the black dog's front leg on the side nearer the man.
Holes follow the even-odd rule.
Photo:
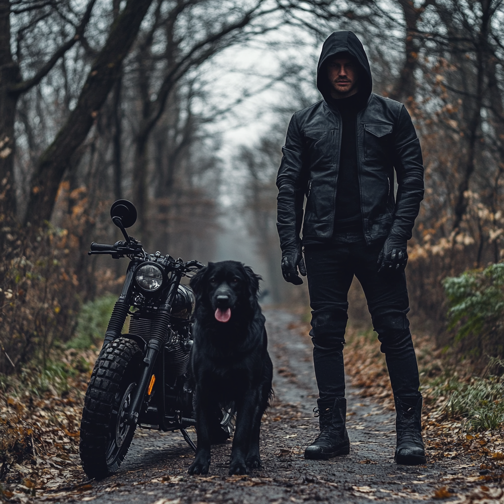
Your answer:
[[[250,434],[257,408],[257,391],[247,391],[244,398],[238,402],[236,411],[236,429],[231,449],[229,474],[246,474],[247,466],[245,457],[250,445]]]

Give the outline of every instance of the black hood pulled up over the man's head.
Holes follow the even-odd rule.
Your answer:
[[[339,52],[349,53],[357,60],[361,67],[358,93],[367,100],[372,89],[371,69],[369,68],[369,61],[367,60],[362,42],[357,38],[355,33],[350,31],[331,33],[324,42],[317,67],[317,88],[325,100],[331,97],[331,84],[327,77],[326,64],[331,56]]]

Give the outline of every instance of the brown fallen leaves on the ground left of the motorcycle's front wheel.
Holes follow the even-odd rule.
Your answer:
[[[76,370],[66,386],[48,383],[41,393],[30,383],[37,376],[23,373],[0,395],[0,499],[26,502],[62,488],[78,493],[91,485],[79,459],[79,427],[90,370],[98,351],[66,350],[59,359]],[[84,365],[85,364],[85,365]],[[5,390],[7,389],[7,390]],[[60,389],[60,390],[58,390]]]

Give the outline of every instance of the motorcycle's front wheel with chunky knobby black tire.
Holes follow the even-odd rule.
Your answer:
[[[115,472],[130,448],[135,427],[126,423],[142,351],[126,338],[107,345],[93,369],[81,420],[82,468],[90,478]]]

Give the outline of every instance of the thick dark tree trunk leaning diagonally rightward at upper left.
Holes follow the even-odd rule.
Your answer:
[[[140,29],[152,0],[128,0],[114,21],[105,46],[96,58],[77,106],[52,144],[40,157],[33,176],[25,222],[39,227],[51,218],[59,183],[70,159],[86,139],[108,93],[121,75],[121,65]]]

